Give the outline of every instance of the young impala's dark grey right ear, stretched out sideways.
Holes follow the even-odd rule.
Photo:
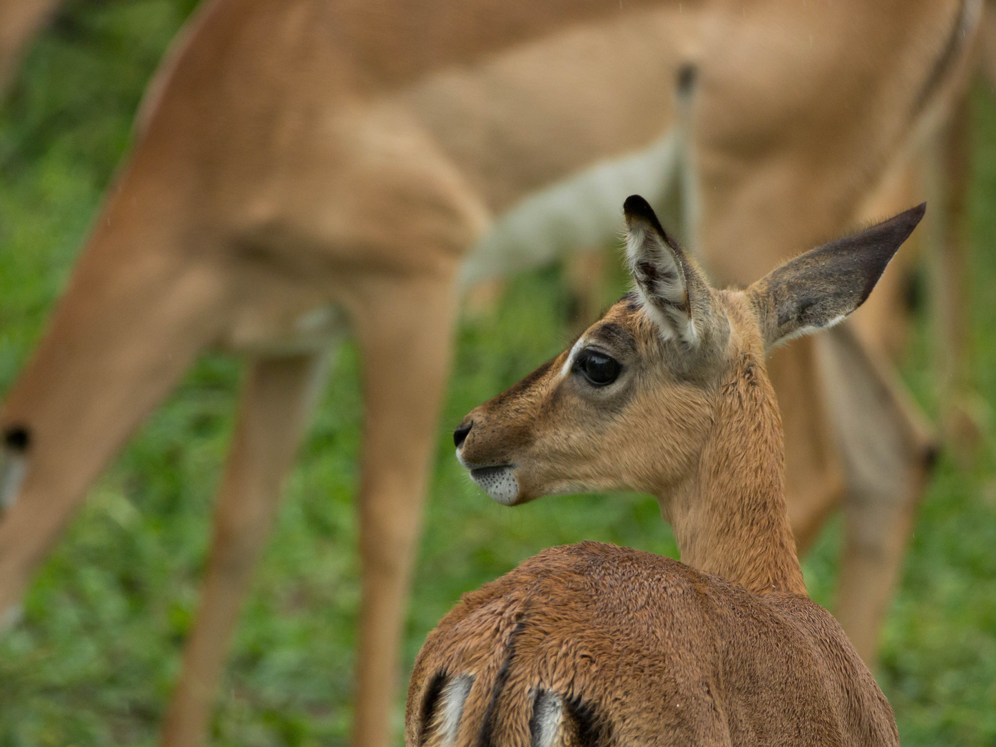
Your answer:
[[[926,203],[786,262],[747,289],[765,348],[831,327],[865,303]]]

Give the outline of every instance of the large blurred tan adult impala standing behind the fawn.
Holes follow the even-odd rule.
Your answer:
[[[345,320],[366,405],[356,740],[379,746],[460,279],[610,238],[626,193],[665,192],[682,169],[694,173],[687,202],[712,269],[724,281],[759,277],[853,219],[964,78],[978,15],[968,0],[623,6],[211,0],[174,46],[50,329],[0,412],[9,609],[88,485],[194,357],[216,346],[247,358],[165,744],[203,735]],[[812,204],[822,209],[803,209]],[[814,405],[815,371],[808,344],[773,368],[801,403],[786,422],[802,536],[847,488]],[[835,371],[837,409],[868,421],[847,392],[880,376],[864,364]],[[849,502],[849,532],[906,521],[918,494],[924,449],[889,402],[874,418],[894,436],[881,440],[884,497]],[[849,534],[842,614],[864,619],[863,590],[882,583],[855,582],[872,571],[887,589],[894,536]]]

